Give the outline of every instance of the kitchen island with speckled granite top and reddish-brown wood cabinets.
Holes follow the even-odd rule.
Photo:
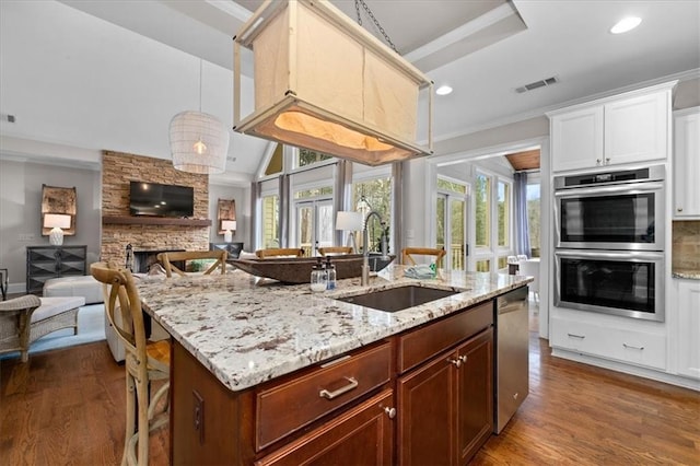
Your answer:
[[[440,447],[419,435],[417,419],[425,413],[418,411],[439,412],[433,405],[444,405],[444,396],[476,391],[479,409],[453,415],[465,404],[458,397],[444,407],[450,431],[434,432],[445,439],[447,456],[470,457],[492,430],[492,300],[529,281],[445,271],[413,280],[401,266],[389,266],[369,287],[347,279],[323,293],[241,271],[140,280],[144,308],[174,341],[172,462],[299,464],[315,457],[323,464],[342,455],[346,464],[407,464],[421,455],[405,451],[408,444],[418,448],[425,438]],[[337,300],[407,284],[455,294],[395,313]],[[469,362],[463,349],[475,351]],[[417,383],[443,360],[446,366]],[[439,380],[444,383],[425,403],[420,391]],[[457,448],[453,438],[474,428],[466,450]]]

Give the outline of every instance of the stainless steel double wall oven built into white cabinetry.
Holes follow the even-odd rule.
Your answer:
[[[664,321],[665,167],[555,177],[555,305]]]

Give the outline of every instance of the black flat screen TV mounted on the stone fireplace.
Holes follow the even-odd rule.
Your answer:
[[[195,210],[195,188],[131,182],[129,210],[131,215],[191,218]]]

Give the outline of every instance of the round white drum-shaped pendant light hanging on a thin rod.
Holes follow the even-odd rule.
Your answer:
[[[170,127],[173,166],[180,172],[215,175],[226,170],[229,130],[214,116],[201,112],[201,67],[199,60],[199,112],[182,112]]]

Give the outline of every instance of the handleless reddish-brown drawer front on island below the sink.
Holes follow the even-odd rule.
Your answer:
[[[398,338],[398,371],[406,372],[492,324],[493,302],[488,301],[409,331]]]

